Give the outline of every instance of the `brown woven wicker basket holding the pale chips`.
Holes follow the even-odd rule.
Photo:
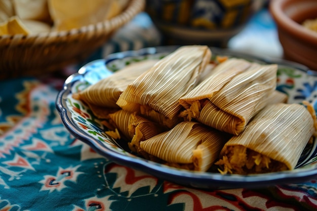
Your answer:
[[[144,7],[144,0],[131,0],[120,15],[79,29],[0,36],[0,79],[38,76],[81,61]]]

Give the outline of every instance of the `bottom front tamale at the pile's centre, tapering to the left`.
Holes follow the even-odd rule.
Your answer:
[[[168,132],[140,142],[140,148],[141,154],[150,159],[154,156],[170,166],[205,172],[228,139],[228,134],[184,121]]]

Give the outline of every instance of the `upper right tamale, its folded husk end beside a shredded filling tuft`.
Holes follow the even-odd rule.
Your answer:
[[[233,135],[240,134],[250,119],[269,103],[268,96],[276,86],[277,65],[248,63],[239,59],[221,63],[215,74],[180,99],[186,109],[180,116]]]

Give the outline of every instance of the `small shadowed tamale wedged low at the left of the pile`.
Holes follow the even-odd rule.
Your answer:
[[[139,152],[139,142],[149,139],[163,131],[162,127],[148,119],[125,110],[109,114],[111,123],[124,136],[129,148]]]

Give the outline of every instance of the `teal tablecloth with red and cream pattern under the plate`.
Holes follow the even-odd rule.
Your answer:
[[[149,25],[141,27],[155,34]],[[160,39],[142,37],[135,44],[120,36],[107,44],[112,51]],[[111,53],[105,49],[99,54]],[[55,108],[63,81],[75,69],[54,78],[0,81],[0,210],[317,210],[317,177],[262,189],[203,191],[102,157],[68,133]]]

